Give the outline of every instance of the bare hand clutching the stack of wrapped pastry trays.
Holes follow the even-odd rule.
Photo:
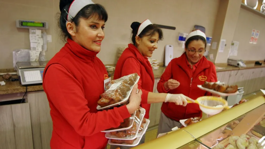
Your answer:
[[[140,106],[142,90],[138,90],[138,84],[135,84],[131,92],[129,103],[126,105],[130,114],[134,113]]]

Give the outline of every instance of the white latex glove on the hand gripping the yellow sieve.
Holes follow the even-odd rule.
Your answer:
[[[176,105],[187,106],[187,101],[194,103],[195,101],[183,94],[167,94],[165,102],[174,102]]]

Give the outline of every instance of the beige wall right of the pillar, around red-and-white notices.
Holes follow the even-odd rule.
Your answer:
[[[255,15],[243,8],[240,8],[233,41],[239,41],[237,56],[230,58],[243,60],[264,60],[265,59],[265,18]],[[260,31],[258,43],[250,44],[252,29]]]

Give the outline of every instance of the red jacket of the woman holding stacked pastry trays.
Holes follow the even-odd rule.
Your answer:
[[[104,149],[108,139],[100,131],[118,127],[130,114],[126,106],[96,109],[107,70],[96,52],[67,41],[43,73],[53,122],[51,149]]]

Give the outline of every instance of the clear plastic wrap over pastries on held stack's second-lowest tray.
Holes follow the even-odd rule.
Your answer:
[[[130,129],[109,132],[105,134],[105,137],[108,139],[121,139],[121,140],[135,139],[137,137],[142,122],[146,123],[144,115],[145,115],[145,109],[142,107],[138,108],[135,113],[133,126]]]

